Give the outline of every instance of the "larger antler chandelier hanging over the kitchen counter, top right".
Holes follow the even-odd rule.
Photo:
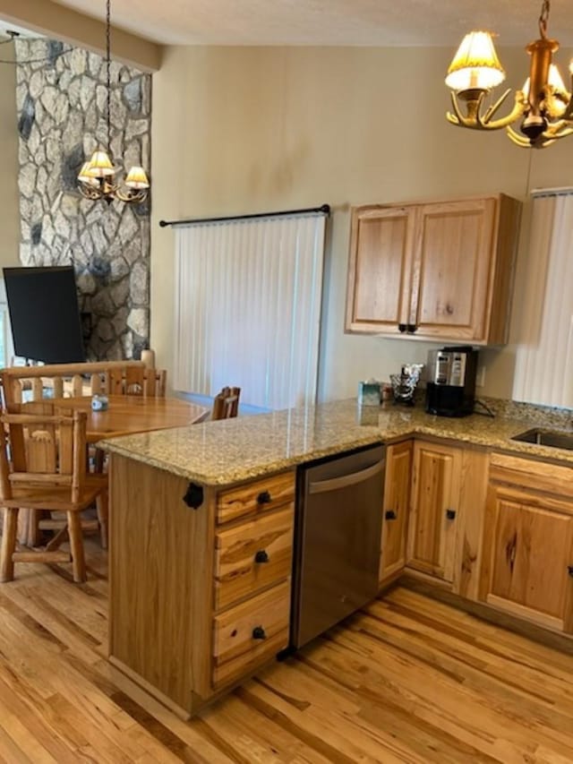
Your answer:
[[[505,80],[491,33],[472,31],[466,35],[449,64],[446,77],[454,111],[446,114],[451,124],[474,130],[505,127],[517,146],[534,149],[543,149],[558,138],[573,133],[573,96],[565,88],[559,69],[552,64],[552,55],[558,50],[559,42],[547,37],[549,8],[549,0],[543,0],[539,17],[540,39],[526,46],[531,56],[529,77],[522,90],[516,90],[513,108],[507,116],[496,118],[510,89],[492,106],[485,107],[484,104],[492,88]],[[573,90],[573,60],[569,64],[569,73],[570,89]],[[466,105],[465,114],[459,101]],[[521,120],[519,132],[511,127],[518,120]]]

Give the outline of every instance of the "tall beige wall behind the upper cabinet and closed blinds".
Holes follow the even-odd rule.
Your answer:
[[[502,132],[447,124],[443,76],[451,53],[167,48],[154,75],[153,108],[151,346],[158,365],[171,366],[174,289],[174,233],[158,228],[159,219],[323,202],[334,213],[321,398],[354,396],[360,379],[387,379],[403,362],[425,361],[428,348],[438,346],[344,333],[349,205],[495,192],[525,199],[536,186],[570,185],[573,167],[573,138],[543,151],[522,150]],[[508,82],[520,86],[526,54],[500,49],[500,57]],[[568,62],[566,52],[561,60]],[[518,329],[516,310],[513,337]],[[513,356],[511,345],[483,352],[483,394],[510,397]]]

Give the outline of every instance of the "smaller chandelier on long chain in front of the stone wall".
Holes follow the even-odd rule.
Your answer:
[[[111,155],[110,4],[111,0],[106,0],[107,150],[98,148],[90,161],[83,163],[78,175],[78,187],[81,194],[91,201],[105,199],[108,204],[114,199],[119,199],[121,202],[143,202],[150,188],[150,182],[143,167],[130,169],[124,180],[125,188],[115,181],[115,167]]]

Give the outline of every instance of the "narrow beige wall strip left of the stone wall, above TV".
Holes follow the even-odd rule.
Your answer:
[[[2,58],[13,61],[13,45],[2,46]],[[20,202],[18,199],[18,119],[16,116],[16,67],[0,64],[0,268],[19,265]],[[2,274],[0,273],[0,276]]]

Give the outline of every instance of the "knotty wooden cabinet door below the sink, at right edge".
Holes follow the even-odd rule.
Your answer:
[[[485,601],[544,626],[573,631],[573,515],[554,511],[554,503],[490,488]]]

